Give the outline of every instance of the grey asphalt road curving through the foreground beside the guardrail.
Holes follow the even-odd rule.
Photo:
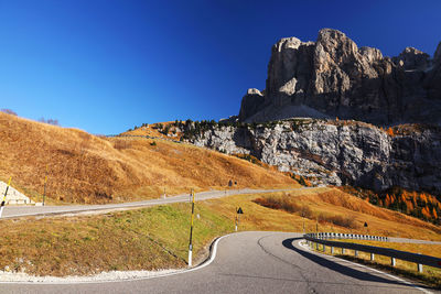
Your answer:
[[[314,253],[301,235],[240,232],[214,261],[171,276],[83,284],[0,284],[1,293],[421,293],[376,270]]]

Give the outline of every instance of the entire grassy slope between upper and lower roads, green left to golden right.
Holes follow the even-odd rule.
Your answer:
[[[329,196],[334,199],[327,202]],[[234,230],[236,207],[241,207],[239,230],[315,231],[315,219],[298,213],[267,208],[262,197],[295,199],[311,214],[326,213],[368,221],[369,233],[441,240],[440,229],[424,221],[375,207],[331,188],[298,189],[270,196],[238,195],[197,202],[194,254],[216,236]],[[351,205],[342,205],[348,198]],[[344,200],[343,200],[344,202]],[[325,209],[326,207],[326,209]],[[366,209],[366,210],[365,210]],[[185,266],[191,205],[173,204],[98,216],[29,218],[0,221],[0,270],[39,275],[89,274],[110,270],[153,270]],[[351,228],[322,219],[320,231],[349,232]],[[440,247],[432,247],[440,250]],[[438,253],[437,253],[438,254]]]

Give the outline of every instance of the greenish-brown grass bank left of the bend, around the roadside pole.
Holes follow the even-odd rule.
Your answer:
[[[2,220],[0,269],[36,275],[158,270],[186,264],[190,204],[101,216]],[[232,231],[226,217],[196,205],[194,255]]]

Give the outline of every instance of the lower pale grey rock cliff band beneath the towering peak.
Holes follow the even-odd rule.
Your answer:
[[[228,154],[251,154],[314,184],[375,190],[400,186],[441,195],[438,127],[401,126],[389,135],[363,122],[297,119],[266,127],[212,127],[191,141]]]

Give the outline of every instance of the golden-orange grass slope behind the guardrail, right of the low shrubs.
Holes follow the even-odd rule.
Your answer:
[[[441,240],[440,227],[397,211],[374,206],[337,188],[320,187],[272,195],[263,194],[260,198],[265,199],[269,197],[288,198],[289,202],[293,202],[298,206],[308,206],[312,211],[312,217],[310,219],[304,218],[306,231],[315,231],[315,224],[319,220],[319,231],[362,232],[389,237]],[[259,206],[258,204],[255,205]],[[266,211],[281,211],[266,207],[263,209]],[[301,213],[282,213],[286,216],[302,219],[300,217]],[[326,219],[332,219],[332,217],[336,216],[351,218],[356,228],[345,228],[326,221]],[[364,227],[365,222],[368,225],[367,228]],[[295,224],[297,230],[302,229],[299,227],[298,221],[292,224]]]

